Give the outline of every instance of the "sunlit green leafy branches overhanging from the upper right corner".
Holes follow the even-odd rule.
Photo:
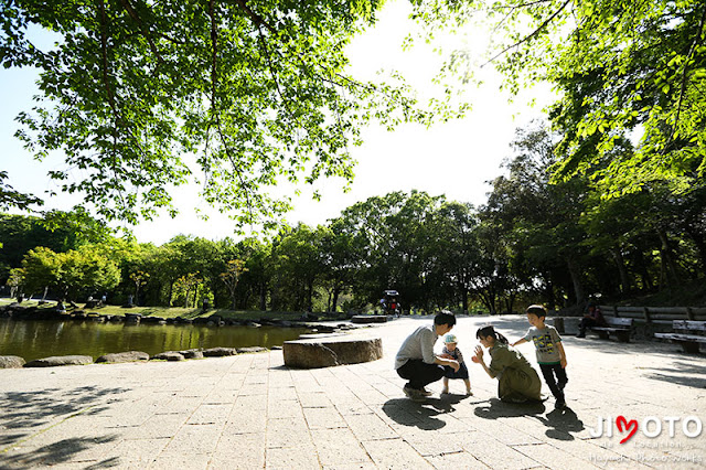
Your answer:
[[[556,85],[564,135],[556,177],[605,168],[611,195],[671,181],[684,192],[706,172],[706,3],[700,0],[415,0],[430,30],[489,19],[502,39],[489,62],[513,92]],[[496,38],[494,38],[496,39]],[[463,54],[450,66],[462,70]],[[624,137],[634,152],[616,153]]]

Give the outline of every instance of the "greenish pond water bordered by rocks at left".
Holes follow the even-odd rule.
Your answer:
[[[280,346],[306,328],[124,324],[92,321],[0,320],[0,355],[25,361],[81,354],[143,351],[150,355],[194,348]]]

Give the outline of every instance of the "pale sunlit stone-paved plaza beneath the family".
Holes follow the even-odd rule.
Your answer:
[[[706,429],[697,429],[706,424],[706,354],[566,335],[570,410],[554,410],[552,397],[543,405],[506,405],[496,399],[496,382],[470,363],[474,333],[491,321],[514,341],[526,320],[460,318],[453,332],[474,395],[462,396],[462,382],[451,381],[451,395],[440,397],[439,382],[430,386],[437,393],[417,404],[404,397],[393,362],[405,337],[430,321],[405,318],[357,330],[351,334],[383,339],[384,357],[329,368],[291,370],[281,351],[270,351],[179,363],[0,370],[0,468],[706,466]],[[520,351],[535,363],[532,344]],[[549,394],[546,385],[543,393]],[[622,431],[618,416],[627,421],[620,421]],[[599,418],[611,423],[602,435]],[[688,437],[697,430],[699,436]]]

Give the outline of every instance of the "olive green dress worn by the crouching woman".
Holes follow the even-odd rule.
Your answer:
[[[498,377],[498,396],[503,402],[521,403],[541,399],[542,382],[525,356],[507,344],[495,343],[490,349],[491,375]]]

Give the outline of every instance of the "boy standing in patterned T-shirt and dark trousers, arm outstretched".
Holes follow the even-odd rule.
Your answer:
[[[561,344],[561,337],[554,327],[545,324],[547,310],[544,306],[527,307],[527,321],[532,325],[524,338],[515,341],[511,345],[526,343],[531,341],[537,351],[537,363],[542,370],[542,375],[546,381],[552,394],[556,398],[556,408],[566,408],[564,387],[568,382],[566,376],[566,353]]]

